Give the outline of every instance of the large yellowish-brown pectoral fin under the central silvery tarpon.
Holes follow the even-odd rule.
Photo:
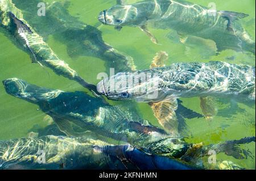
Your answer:
[[[161,102],[150,102],[154,116],[158,122],[168,132],[177,134],[178,121],[175,111],[177,110],[177,99],[170,98]]]

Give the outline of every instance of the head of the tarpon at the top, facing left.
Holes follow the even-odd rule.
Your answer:
[[[138,22],[137,8],[131,5],[116,5],[100,12],[98,20],[112,26],[136,26]]]

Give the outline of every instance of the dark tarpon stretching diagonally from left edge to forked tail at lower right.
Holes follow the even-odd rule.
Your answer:
[[[8,94],[38,104],[67,136],[84,136],[93,132],[103,141],[109,137],[144,153],[175,158],[192,166],[207,157],[210,149],[237,159],[250,157],[250,152],[241,151],[238,145],[255,141],[255,137],[248,137],[217,145],[188,144],[182,137],[167,134],[134,112],[124,111],[120,106],[109,106],[84,92],[46,89],[17,78],[6,79],[3,85]],[[208,166],[204,163],[203,168]]]

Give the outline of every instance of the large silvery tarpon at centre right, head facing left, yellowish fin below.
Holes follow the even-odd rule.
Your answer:
[[[109,99],[149,103],[159,123],[167,128],[176,123],[177,98],[200,96],[204,110],[209,110],[208,96],[255,103],[255,67],[220,61],[156,67],[105,78],[97,90]]]

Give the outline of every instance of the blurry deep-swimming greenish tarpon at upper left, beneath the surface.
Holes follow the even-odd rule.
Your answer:
[[[15,1],[15,5],[22,10],[27,22],[39,35],[44,39],[52,36],[54,40],[65,45],[64,50],[69,57],[72,59],[84,57],[82,60],[88,62],[92,60],[86,57],[100,58],[108,68],[115,68],[117,71],[130,71],[135,68],[132,57],[103,40],[100,27],[88,24],[86,20],[82,22],[69,14],[69,3],[59,1],[46,3],[46,20],[42,16],[35,16],[38,13],[37,8],[31,9],[38,6],[40,2],[42,1]]]

